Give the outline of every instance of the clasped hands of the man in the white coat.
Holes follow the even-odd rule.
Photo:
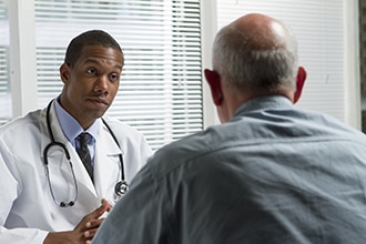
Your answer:
[[[73,231],[49,233],[43,244],[90,244],[99,226],[104,221],[100,217],[112,210],[106,200],[103,199],[101,203],[101,206],[85,215]]]

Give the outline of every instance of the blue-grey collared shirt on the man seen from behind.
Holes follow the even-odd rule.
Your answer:
[[[93,244],[365,240],[365,135],[263,96],[155,152]]]

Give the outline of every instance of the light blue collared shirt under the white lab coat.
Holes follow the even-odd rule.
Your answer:
[[[75,149],[79,149],[80,146],[79,141],[77,140],[80,133],[88,132],[91,135],[91,139],[88,143],[88,148],[90,151],[92,162],[94,162],[94,154],[95,154],[94,144],[95,144],[95,139],[98,138],[98,132],[99,132],[98,123],[100,121],[95,120],[95,122],[90,128],[88,128],[88,130],[84,131],[83,128],[79,124],[79,122],[61,106],[58,99],[54,100],[54,108],[63,134],[67,136],[67,139],[71,142],[71,144]]]

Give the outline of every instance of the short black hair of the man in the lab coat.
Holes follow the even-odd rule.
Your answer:
[[[112,35],[102,30],[90,30],[71,40],[67,49],[64,62],[69,65],[73,65],[85,45],[103,45],[105,48],[119,50],[123,54],[120,44]]]

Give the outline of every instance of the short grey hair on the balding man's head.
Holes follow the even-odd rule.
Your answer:
[[[226,85],[251,92],[295,91],[297,42],[284,28],[285,44],[268,39],[272,47],[261,44],[262,34],[243,33],[231,26],[221,29],[213,44],[213,62]]]

